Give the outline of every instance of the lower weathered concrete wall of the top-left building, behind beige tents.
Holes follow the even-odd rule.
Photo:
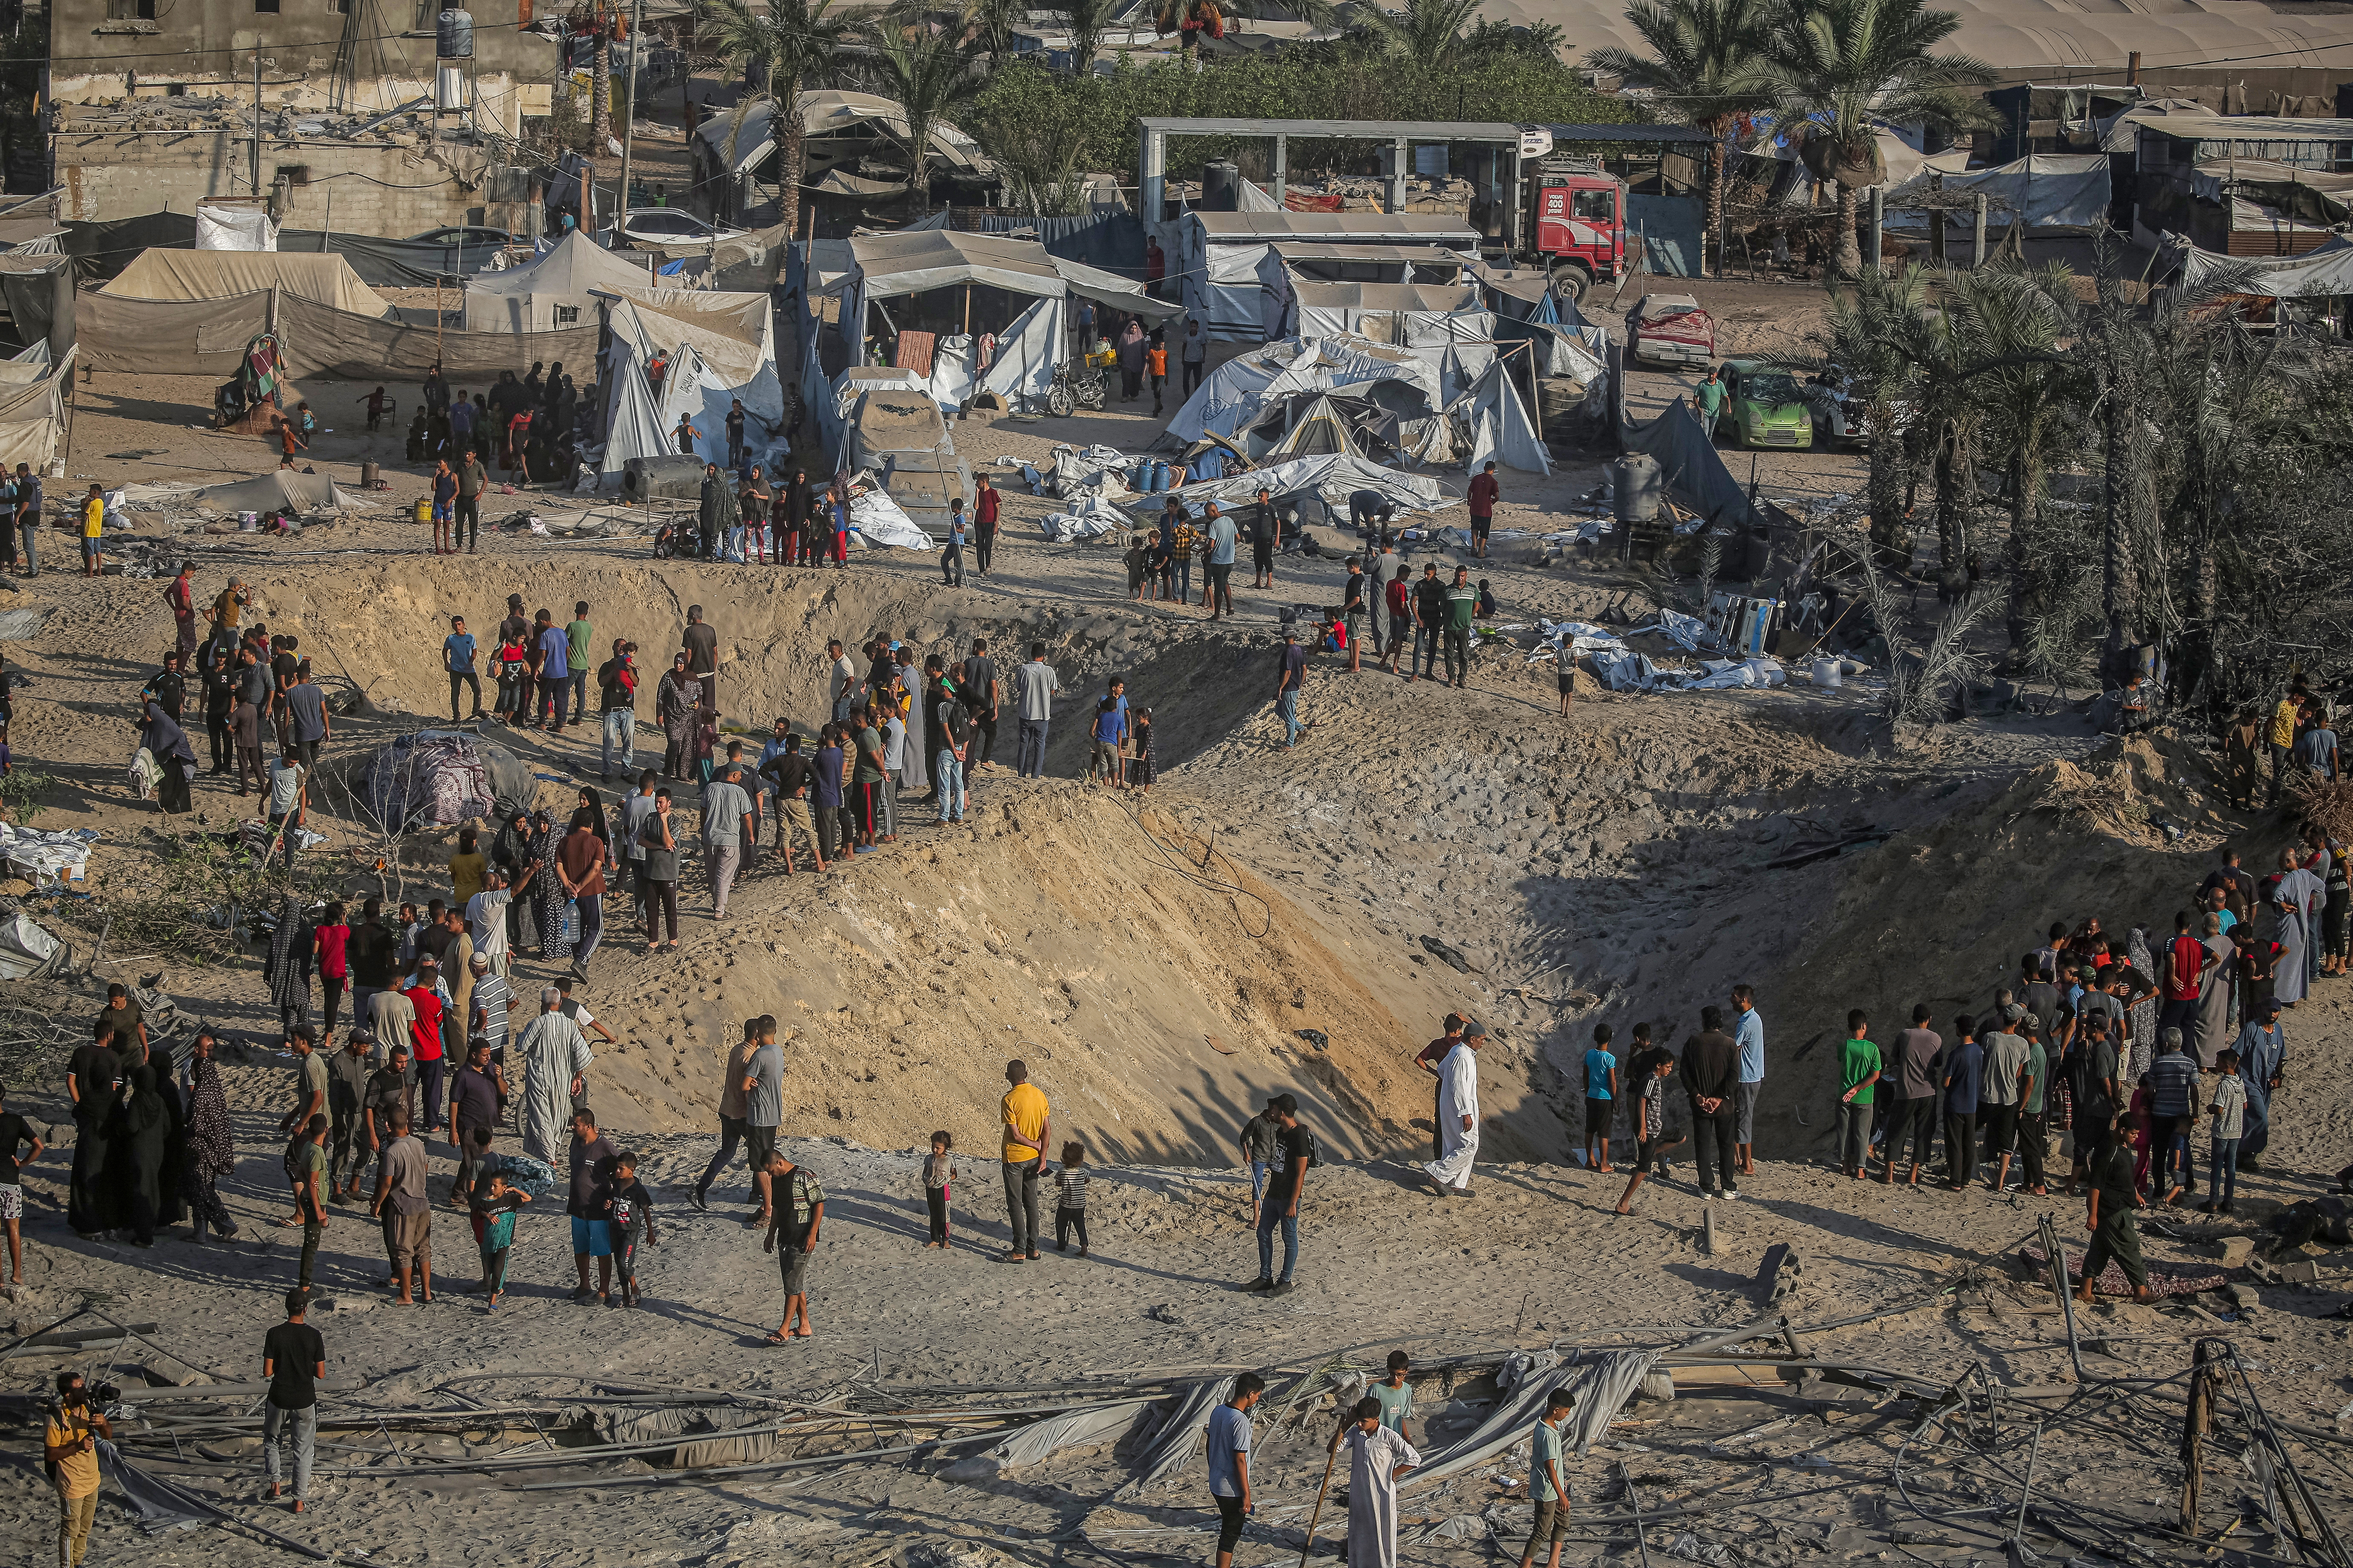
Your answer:
[[[146,212],[195,212],[200,197],[252,195],[252,136],[233,132],[52,139],[66,219],[127,219]],[[264,136],[261,188],[280,169],[304,169],[287,186],[285,228],[332,228],[346,235],[405,240],[442,223],[494,223],[522,230],[527,202],[492,202],[478,148],[438,158],[426,146],[301,141]],[[464,172],[468,183],[459,181]],[[329,205],[332,197],[332,205]]]

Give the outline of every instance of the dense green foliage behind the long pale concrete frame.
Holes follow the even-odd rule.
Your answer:
[[[1066,75],[1038,61],[1009,61],[993,73],[976,101],[976,134],[993,158],[1021,165],[1024,148],[1054,127],[1066,139],[1068,167],[1129,172],[1136,167],[1139,120],[1501,120],[1553,125],[1628,125],[1640,113],[1579,82],[1553,59],[1504,49],[1461,68],[1431,73],[1332,45],[1297,45],[1245,59],[1217,59],[1193,71],[1181,63],[1136,66],[1120,59],[1108,75]],[[1169,143],[1169,167],[1264,150],[1261,136],[1184,136]],[[1369,141],[1289,143],[1294,169],[1372,167]]]

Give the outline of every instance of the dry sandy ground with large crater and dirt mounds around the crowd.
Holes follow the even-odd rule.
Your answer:
[[[226,444],[233,437],[158,435],[148,423],[165,407],[195,418],[200,395],[193,383],[104,378],[85,402],[78,451],[169,442],[144,468],[122,458],[108,482],[207,465],[245,473],[252,454]],[[94,414],[99,402],[120,414]],[[1129,444],[1148,435],[1115,407],[1059,428],[1000,425],[965,444],[979,458],[1000,449],[1035,456],[1047,433]],[[393,447],[379,440],[381,458]],[[327,456],[351,473],[362,447],[355,440]],[[75,461],[75,470],[89,465]],[[1499,522],[1558,527],[1548,520],[1591,480],[1586,470],[1513,482]],[[560,517],[553,498],[532,505]],[[539,1213],[522,1225],[513,1312],[489,1319],[454,1293],[431,1309],[374,1305],[374,1237],[362,1215],[341,1211],[327,1288],[360,1314],[339,1309],[322,1324],[336,1371],[372,1382],[367,1399],[433,1403],[433,1385],[471,1371],[544,1375],[555,1380],[548,1392],[586,1387],[567,1378],[605,1378],[821,1396],[856,1375],[1040,1382],[1172,1366],[1308,1366],[1341,1345],[1405,1342],[1433,1356],[1513,1335],[1544,1345],[1628,1324],[1746,1324],[1758,1309],[1748,1276],[1772,1241],[1807,1255],[1807,1295],[1793,1309],[1800,1324],[1906,1300],[1948,1267],[2000,1265],[2040,1211],[2068,1237],[2080,1234],[2080,1213],[2059,1199],[1859,1192],[1831,1175],[1821,1164],[1833,1072],[1826,1044],[1845,1009],[1866,1006],[1887,1030],[1920,999],[1939,1013],[1981,1004],[2049,919],[2099,912],[2111,929],[2158,922],[2195,886],[2221,837],[2266,853],[2289,827],[2275,816],[2231,813],[2195,748],[2101,748],[2071,717],[1979,719],[1939,729],[1927,750],[1904,755],[1875,745],[1859,693],[1581,698],[1562,722],[1548,675],[1525,670],[1518,656],[1485,656],[1468,693],[1346,675],[1325,658],[1306,703],[1315,729],[1297,752],[1280,752],[1271,715],[1275,609],[1334,602],[1341,569],[1285,557],[1273,595],[1242,592],[1233,625],[1205,628],[1200,611],[1129,604],[1111,550],[1038,543],[1021,524],[1049,505],[1012,501],[1014,534],[998,571],[967,590],[936,588],[936,569],[913,557],[807,574],[654,564],[642,541],[501,534],[485,543],[485,557],[431,559],[416,552],[421,531],[393,522],[398,512],[301,543],[205,541],[216,550],[200,578],[207,595],[233,562],[254,583],[259,614],[299,632],[308,654],[384,712],[339,722],[336,750],[398,733],[402,708],[440,712],[431,651],[442,618],[468,614],[487,625],[508,590],[558,609],[586,597],[602,635],[631,635],[654,656],[675,646],[682,607],[706,604],[722,635],[725,705],[753,724],[776,712],[816,719],[824,639],[878,630],[944,651],[962,651],[972,635],[1000,646],[1035,635],[1073,691],[1099,691],[1122,670],[1162,724],[1162,783],[1144,811],[1071,783],[1082,712],[1073,698],[1056,719],[1059,778],[1016,785],[991,773],[969,827],[918,827],[911,813],[901,846],[845,875],[788,882],[762,870],[739,891],[725,931],[689,898],[696,912],[675,959],[600,957],[591,1004],[621,1044],[600,1056],[595,1103],[628,1143],[652,1152],[647,1180],[673,1227],[649,1260],[652,1305],[628,1319],[572,1307],[560,1218]],[[499,515],[499,505],[485,510]],[[1508,618],[1638,607],[1654,588],[1602,567],[1492,562],[1485,574]],[[120,783],[129,701],[169,642],[160,588],[52,571],[14,595],[54,611],[38,639],[9,649],[9,668],[31,675],[16,693],[19,764],[61,773],[42,825],[99,827],[106,842],[92,870],[113,886],[141,879],[139,835],[162,825]],[[567,802],[572,783],[593,780],[593,738],[529,736],[518,750],[546,778],[548,799]],[[198,788],[212,825],[238,804],[219,780]],[[2167,844],[2148,825],[2151,811],[2184,825],[2186,839]],[[1798,870],[1765,865],[1824,830],[1864,825],[1885,830],[1887,842]],[[344,849],[348,835],[339,832],[322,853]],[[445,853],[440,844],[421,849],[412,875],[431,877],[426,867]],[[348,870],[358,882],[358,867]],[[1424,936],[1461,947],[1482,973],[1440,964]],[[122,954],[96,978],[155,966]],[[527,978],[541,971],[525,964]],[[1687,1182],[1645,1192],[1635,1218],[1617,1220],[1619,1178],[1567,1164],[1574,1133],[1562,1117],[1574,1095],[1565,1070],[1595,1020],[1624,1039],[1626,1025],[1652,1018],[1680,1044],[1697,1006],[1720,1001],[1734,980],[1760,987],[1769,1020],[1767,1161],[1748,1182],[1753,1201],[1722,1206],[1720,1253],[1704,1255]],[[165,964],[165,985],[231,1027],[271,1025],[252,966]],[[2320,1173],[2346,1159],[2348,999],[2346,985],[2327,983],[2289,1020],[2294,1081],[2273,1159],[2242,1185],[2238,1229],[2315,1192]],[[1497,1032],[1482,1060],[1487,1152],[1527,1164],[1494,1166],[1480,1199],[1445,1206],[1412,1185],[1407,1161],[1428,1135],[1428,1098],[1409,1056],[1449,1006],[1475,1011]],[[711,1150],[718,1053],[734,1023],[758,1011],[779,1013],[793,1032],[786,1133],[835,1194],[819,1265],[824,1331],[788,1349],[758,1345],[774,1324],[776,1284],[748,1232],[725,1208],[696,1215],[682,1201]],[[1299,1030],[1325,1032],[1329,1048],[1313,1048]],[[984,1154],[998,1067],[1014,1053],[1038,1067],[1059,1126],[1082,1133],[1106,1161],[1089,1262],[1049,1255],[1042,1267],[1009,1269],[988,1255],[1002,1211]],[[141,1253],[78,1241],[61,1220],[61,1161],[35,1166],[26,1220],[33,1291],[16,1305],[21,1326],[61,1314],[80,1291],[106,1291],[108,1312],[160,1324],[174,1356],[214,1378],[252,1375],[275,1293],[292,1276],[292,1251],[268,1227],[280,1204],[268,1124],[285,1077],[266,1058],[231,1070],[245,1152],[228,1185],[247,1225],[238,1248],[172,1239]],[[1254,1258],[1242,1190],[1224,1166],[1245,1105],[1278,1086],[1304,1091],[1327,1147],[1351,1164],[1315,1178],[1304,1288],[1264,1302],[1233,1293]],[[16,1086],[12,1103],[64,1119],[54,1081]],[[918,1246],[913,1150],[932,1126],[953,1128],[974,1154],[960,1222],[981,1246],[948,1258]],[[1689,1164],[1678,1173],[1687,1178]],[[447,1150],[435,1147],[438,1182],[447,1175]],[[718,1194],[734,1197],[732,1182]],[[438,1227],[442,1276],[471,1281],[466,1239],[445,1218]],[[2153,1241],[2153,1253],[2188,1255],[2172,1241]],[[2346,1328],[2325,1316],[2344,1302],[2337,1286],[2339,1274],[2322,1274],[2320,1286],[2266,1288],[2259,1316],[2231,1328],[2242,1354],[2264,1361],[2257,1385],[2282,1418],[2313,1422],[2346,1401]],[[1939,1307],[1809,1338],[1807,1347],[1939,1378],[1972,1361],[2012,1385],[2061,1375],[2057,1319],[2031,1316],[2047,1298],[2028,1288],[1995,1307]],[[2186,1335],[2202,1326],[2174,1309],[2104,1312],[2099,1328],[2118,1356],[2099,1363],[2108,1371],[2177,1371]],[[35,1371],[54,1363],[21,1366],[14,1387],[28,1389]],[[1734,1462],[1689,1432],[1729,1432],[1767,1410],[1692,1401],[1666,1418],[1638,1415],[1668,1422],[1638,1434],[1649,1455],[1635,1469],[1647,1507],[1762,1495],[1760,1486],[1821,1488],[1762,1512],[1729,1512],[1701,1530],[1741,1559],[1911,1552],[1967,1561],[1988,1552],[1951,1533],[1937,1540],[1958,1552],[1889,1542],[1901,1514],[1885,1460],[1901,1432],[1831,1418],[1760,1441]],[[1798,1458],[1824,1436],[1840,1446]],[[2151,1427],[2141,1441],[2169,1453],[2172,1436]],[[2158,1502],[2174,1483],[2160,1458],[2118,1467],[2125,1439],[2082,1443],[2073,1462],[2111,1500]],[[1320,1472],[1313,1458],[1320,1443],[1308,1439],[1271,1450],[1261,1472],[1268,1514],[1308,1502]],[[1581,1502],[1602,1495],[1609,1462],[1600,1453],[1579,1462]],[[1737,1474],[1727,1476],[1727,1465]],[[988,1486],[939,1481],[932,1469],[882,1462],[772,1483],[586,1495],[336,1476],[325,1507],[294,1533],[374,1561],[875,1563],[925,1537],[988,1542],[1014,1561],[1207,1556],[1207,1542],[1191,1535],[1108,1535],[1195,1526],[1198,1467],[1179,1490],[1122,1505],[1120,1519],[1094,1519],[1094,1544],[1073,1528],[1113,1490],[1111,1455]],[[2318,1460],[2306,1469],[2327,1476],[2339,1488],[2327,1495],[2341,1502],[2341,1476]],[[198,1476],[198,1486],[261,1516],[254,1481],[221,1472]],[[1409,1502],[1407,1512],[1475,1512],[1487,1490],[1464,1486],[1442,1507]],[[2240,1490],[2209,1479],[2209,1497]],[[31,1467],[0,1486],[0,1509],[9,1537],[33,1540],[45,1497]],[[1292,1542],[1297,1552],[1297,1533]],[[134,1549],[160,1563],[271,1554],[212,1533],[134,1544],[125,1516],[104,1512],[104,1559],[94,1561]],[[2045,1540],[2038,1549],[2059,1547]],[[1612,1556],[1626,1552],[1631,1540],[1609,1547]],[[1257,1537],[1245,1561],[1280,1554]],[[1433,1544],[1409,1556],[1459,1554]]]

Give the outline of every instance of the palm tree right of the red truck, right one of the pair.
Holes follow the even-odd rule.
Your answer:
[[[1875,122],[1991,122],[1960,87],[1991,82],[1993,68],[1934,52],[1958,26],[1927,0],[1784,0],[1769,24],[1755,87],[1786,120],[1807,122],[1805,165],[1838,186],[1833,268],[1847,277],[1864,266],[1854,193],[1887,176]]]

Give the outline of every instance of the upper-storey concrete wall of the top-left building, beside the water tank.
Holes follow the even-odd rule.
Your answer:
[[[374,113],[433,92],[433,9],[442,0],[146,0],[155,19],[108,19],[108,0],[52,0],[49,99],[92,103],[125,96],[235,94],[252,103],[254,49],[268,108],[322,110],[334,99],[334,61],[348,33],[353,92],[341,108]],[[129,0],[136,9],[141,0]],[[522,134],[525,87],[555,78],[555,42],[520,33],[532,0],[471,0],[471,101],[485,129]],[[534,108],[532,113],[546,113]]]

